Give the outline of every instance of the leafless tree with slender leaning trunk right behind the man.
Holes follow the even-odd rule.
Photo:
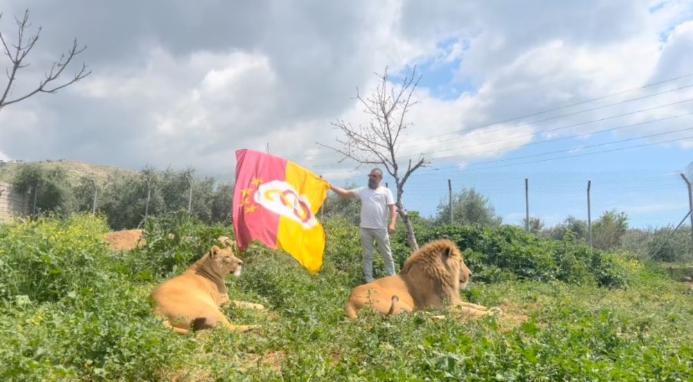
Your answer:
[[[378,76],[378,86],[372,89],[366,98],[360,94],[358,87],[356,88],[356,99],[363,105],[363,112],[370,116],[371,121],[367,125],[359,125],[356,128],[351,123],[337,119],[332,125],[344,133],[344,138],[336,139],[342,147],[327,146],[319,142],[318,144],[343,155],[344,157],[340,159],[340,162],[345,159],[356,161],[358,163],[356,168],[364,164],[385,167],[387,173],[392,175],[395,180],[397,211],[407,229],[407,243],[412,249],[417,250],[419,244],[416,243],[416,235],[409,214],[407,214],[407,209],[402,202],[402,194],[404,193],[404,184],[410,175],[417,168],[426,166],[427,162],[424,161],[423,157],[420,157],[416,162],[409,159],[406,171],[401,171],[396,155],[399,149],[398,140],[405,130],[413,125],[413,123],[406,122],[405,116],[410,107],[416,105],[412,95],[416,86],[419,85],[421,75],[416,73],[416,67],[414,67],[410,77],[405,77],[399,85],[393,85],[389,83],[387,67],[385,67],[383,74],[375,74]]]

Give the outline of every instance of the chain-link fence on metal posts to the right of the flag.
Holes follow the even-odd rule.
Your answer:
[[[618,240],[622,248],[648,257],[659,252],[666,259],[668,255],[662,253],[668,250],[678,258],[693,258],[686,182],[692,178],[685,171],[491,173],[426,168],[416,171],[405,184],[403,203],[408,211],[439,223],[465,223],[451,216],[450,202],[459,201],[461,193],[473,189],[503,224],[556,238],[560,232],[556,234],[552,228],[577,221],[586,227],[584,241],[592,244],[595,224],[599,228],[604,220],[615,219],[625,228]],[[333,182],[362,186],[365,177]],[[385,182],[395,191],[391,177]],[[672,250],[667,241],[676,242],[678,248]],[[597,248],[605,245],[594,244]]]

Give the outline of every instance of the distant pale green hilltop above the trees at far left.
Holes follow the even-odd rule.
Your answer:
[[[127,170],[125,168],[98,166],[95,164],[87,164],[62,159],[58,161],[44,162],[0,162],[0,182],[12,183],[12,180],[15,178],[19,168],[26,164],[37,164],[46,170],[62,168],[64,169],[65,173],[67,173],[71,184],[77,184],[82,178],[94,179],[97,184],[105,184],[109,175],[132,176],[137,174],[137,171]]]

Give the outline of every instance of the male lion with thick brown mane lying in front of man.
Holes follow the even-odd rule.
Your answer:
[[[344,310],[354,319],[367,307],[390,315],[442,308],[448,301],[459,313],[493,314],[493,309],[459,299],[459,288],[466,288],[471,275],[453,241],[432,241],[414,252],[398,275],[354,288]]]

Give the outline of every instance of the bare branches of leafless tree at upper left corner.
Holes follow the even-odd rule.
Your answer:
[[[1,19],[2,13],[0,13],[0,20]],[[26,37],[26,32],[31,26],[31,24],[28,22],[29,10],[24,12],[23,19],[15,18],[15,21],[17,22],[16,43],[8,42],[6,36],[0,33],[0,42],[2,43],[3,52],[10,60],[10,65],[5,69],[8,82],[0,98],[0,111],[7,105],[24,101],[26,98],[38,93],[55,94],[55,92],[58,92],[58,90],[62,89],[63,87],[72,85],[73,83],[76,83],[77,81],[91,74],[91,70],[87,70],[87,65],[82,64],[82,68],[79,71],[76,71],[73,77],[62,82],[58,80],[64,69],[70,64],[73,58],[87,49],[86,45],[79,48],[77,45],[77,39],[75,39],[72,43],[72,47],[68,49],[67,52],[60,55],[60,60],[53,62],[51,69],[46,71],[45,78],[40,80],[37,87],[28,90],[26,94],[21,96],[12,97],[12,90],[15,88],[15,83],[17,82],[17,72],[19,69],[28,67],[29,64],[26,62],[26,56],[34,48],[36,42],[39,40],[39,35],[41,34],[41,27],[39,27],[35,35],[30,35],[28,38]],[[2,88],[0,87],[0,91],[1,90]]]

